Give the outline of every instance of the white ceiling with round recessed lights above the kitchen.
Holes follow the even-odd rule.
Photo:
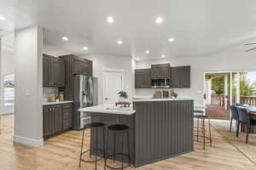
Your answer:
[[[15,28],[43,26],[45,42],[74,54],[139,59],[207,55],[256,37],[255,0],[0,0],[0,15]],[[164,21],[156,25],[159,16]],[[170,37],[175,41],[168,42]]]

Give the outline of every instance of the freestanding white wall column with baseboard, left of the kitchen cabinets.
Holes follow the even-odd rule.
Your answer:
[[[43,140],[43,32],[38,26],[15,31],[14,142],[38,146]]]

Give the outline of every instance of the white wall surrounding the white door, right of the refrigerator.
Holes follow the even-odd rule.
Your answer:
[[[127,91],[129,99],[133,95],[132,87],[132,69],[131,69],[131,58],[123,56],[114,56],[106,54],[92,54],[84,58],[93,61],[93,76],[98,78],[98,103],[103,103],[103,77],[102,69],[120,69],[124,70],[125,85],[124,90]],[[134,84],[134,83],[133,83]],[[133,85],[134,87],[134,85]]]

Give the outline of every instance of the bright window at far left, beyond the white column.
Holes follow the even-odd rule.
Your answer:
[[[3,77],[3,106],[15,105],[15,75]]]

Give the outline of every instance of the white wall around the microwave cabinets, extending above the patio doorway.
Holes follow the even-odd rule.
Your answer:
[[[256,71],[256,52],[245,53],[238,48],[232,52],[208,56],[166,58],[137,62],[136,68],[150,68],[151,64],[170,63],[172,66],[191,65],[191,88],[175,89],[178,96],[192,97],[204,104],[204,73],[206,71]],[[136,95],[153,95],[155,89],[136,89]]]

